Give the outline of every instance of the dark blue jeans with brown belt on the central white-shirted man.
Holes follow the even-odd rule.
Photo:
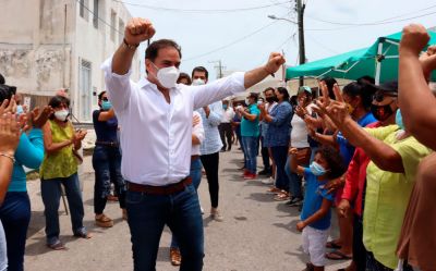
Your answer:
[[[181,271],[201,271],[203,219],[194,185],[171,195],[128,190],[125,196],[134,271],[155,271],[160,236],[167,224],[180,244]]]

